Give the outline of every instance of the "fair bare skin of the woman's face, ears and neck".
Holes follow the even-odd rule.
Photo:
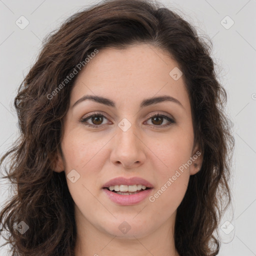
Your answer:
[[[179,255],[174,246],[176,209],[181,203],[189,176],[195,174],[202,155],[184,168],[176,180],[153,202],[148,198],[134,205],[112,202],[102,186],[118,177],[139,176],[153,184],[152,196],[176,170],[187,163],[193,148],[191,108],[183,76],[174,80],[169,72],[177,62],[168,52],[147,44],[126,49],[105,48],[80,71],[70,94],[55,171],[67,175],[75,169],[80,177],[67,185],[75,203],[77,240],[75,255]],[[86,94],[113,100],[116,107],[84,100]],[[143,108],[144,98],[169,95],[175,102],[163,101]],[[106,118],[81,119],[100,112]],[[150,114],[165,114],[175,123],[154,121]],[[126,118],[131,126],[123,131],[118,123]],[[158,125],[158,126],[157,126]],[[162,128],[161,128],[162,127]],[[196,166],[197,165],[197,166]],[[118,226],[126,221],[131,227],[122,233]]]

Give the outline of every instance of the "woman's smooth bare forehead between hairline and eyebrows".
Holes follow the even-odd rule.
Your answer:
[[[170,75],[176,68],[178,63],[167,51],[152,45],[103,48],[78,73],[70,102],[85,94],[116,99],[116,102],[141,101],[167,94],[189,107],[182,75],[176,80]]]

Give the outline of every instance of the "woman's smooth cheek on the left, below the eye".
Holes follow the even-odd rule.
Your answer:
[[[76,203],[82,200],[87,200],[87,203],[90,200],[94,202],[95,198],[91,197],[90,191],[95,191],[95,187],[98,186],[98,173],[104,164],[101,150],[107,138],[97,139],[78,129],[73,129],[66,134],[68,135],[63,138],[61,148],[65,156],[68,189]],[[75,178],[69,179],[71,176]],[[96,192],[93,193],[96,195]]]

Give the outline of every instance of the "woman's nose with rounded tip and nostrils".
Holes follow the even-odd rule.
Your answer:
[[[115,165],[125,168],[138,167],[145,161],[145,149],[141,137],[135,125],[131,125],[126,131],[116,128],[117,134],[113,137],[110,160]]]

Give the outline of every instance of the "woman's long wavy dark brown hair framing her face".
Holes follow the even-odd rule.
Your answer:
[[[56,152],[61,153],[63,116],[77,76],[50,99],[47,95],[94,49],[123,49],[139,42],[168,51],[179,64],[191,104],[194,140],[203,154],[201,169],[190,176],[177,208],[176,249],[181,256],[217,255],[220,239],[213,232],[222,206],[226,209],[231,201],[228,152],[234,138],[224,114],[226,92],[217,81],[209,44],[177,13],[148,0],[100,2],[73,14],[44,39],[14,99],[21,134],[0,161],[9,156],[3,178],[15,185],[0,212],[2,228],[9,233],[3,245],[11,245],[12,255],[74,255],[74,201],[64,171],[55,172],[51,166]],[[20,221],[29,227],[23,234],[15,228]]]

